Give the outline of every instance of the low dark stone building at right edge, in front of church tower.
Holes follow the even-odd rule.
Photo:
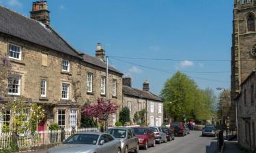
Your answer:
[[[256,73],[253,71],[241,84],[238,103],[238,142],[248,150],[256,149]]]

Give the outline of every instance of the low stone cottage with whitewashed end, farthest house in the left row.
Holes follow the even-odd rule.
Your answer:
[[[150,84],[146,80],[143,90],[132,88],[131,78],[123,78],[123,105],[130,109],[130,119],[136,124],[134,114],[145,109],[145,124],[161,126],[163,123],[162,99],[150,92]],[[141,120],[139,120],[141,122]]]

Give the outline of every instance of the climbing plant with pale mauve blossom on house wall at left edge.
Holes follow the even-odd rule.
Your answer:
[[[7,91],[7,78],[10,75],[12,65],[5,55],[0,56],[0,100],[4,98]]]

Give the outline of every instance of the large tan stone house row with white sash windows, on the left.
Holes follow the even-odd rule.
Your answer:
[[[31,18],[1,6],[0,12],[0,54],[8,56],[13,71],[6,95],[44,106],[46,118],[38,130],[53,122],[64,128],[80,126],[81,106],[105,99],[106,88],[111,101],[122,106],[122,73],[109,66],[106,86],[105,52],[100,44],[96,57],[72,48],[51,27],[46,1],[33,3]],[[12,120],[8,108],[1,112],[5,117],[0,129]]]

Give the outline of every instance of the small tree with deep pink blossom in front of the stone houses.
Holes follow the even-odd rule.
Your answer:
[[[115,103],[107,103],[104,99],[98,99],[96,104],[87,104],[82,108],[82,116],[87,116],[95,122],[106,122],[109,115],[115,114],[118,106]]]

